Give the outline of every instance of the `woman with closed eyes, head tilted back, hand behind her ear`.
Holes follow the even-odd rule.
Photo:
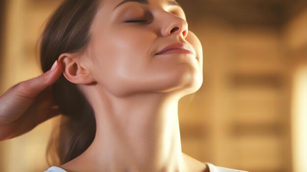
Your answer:
[[[181,152],[178,101],[203,82],[187,28],[175,0],[64,0],[42,36],[45,74],[0,98],[1,140],[61,113],[47,172],[235,172]]]

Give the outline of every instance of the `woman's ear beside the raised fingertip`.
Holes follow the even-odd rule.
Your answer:
[[[75,84],[90,84],[95,82],[89,70],[77,59],[76,55],[72,53],[63,53],[59,56],[58,61],[63,66],[63,74],[66,79]]]

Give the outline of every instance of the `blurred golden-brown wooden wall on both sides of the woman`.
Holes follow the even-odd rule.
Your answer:
[[[7,0],[0,93],[40,74],[35,44],[60,1]],[[305,5],[297,0],[178,1],[204,49],[204,84],[179,103],[183,152],[229,168],[292,172],[292,74],[307,57]],[[0,143],[0,172],[46,170],[51,126],[41,124]]]

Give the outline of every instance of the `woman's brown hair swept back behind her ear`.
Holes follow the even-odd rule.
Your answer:
[[[91,24],[99,6],[99,0],[64,0],[57,8],[41,37],[40,61],[43,72],[51,68],[60,54],[86,49],[91,38]],[[49,165],[62,165],[90,146],[96,133],[96,121],[87,99],[77,85],[69,82],[63,74],[52,85],[52,92],[64,116],[52,132],[47,162]]]

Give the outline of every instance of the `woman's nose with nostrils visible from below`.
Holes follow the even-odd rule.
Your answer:
[[[167,18],[164,18],[164,26],[161,28],[162,36],[170,36],[177,34],[185,38],[188,34],[187,22],[173,14],[168,14]]]

